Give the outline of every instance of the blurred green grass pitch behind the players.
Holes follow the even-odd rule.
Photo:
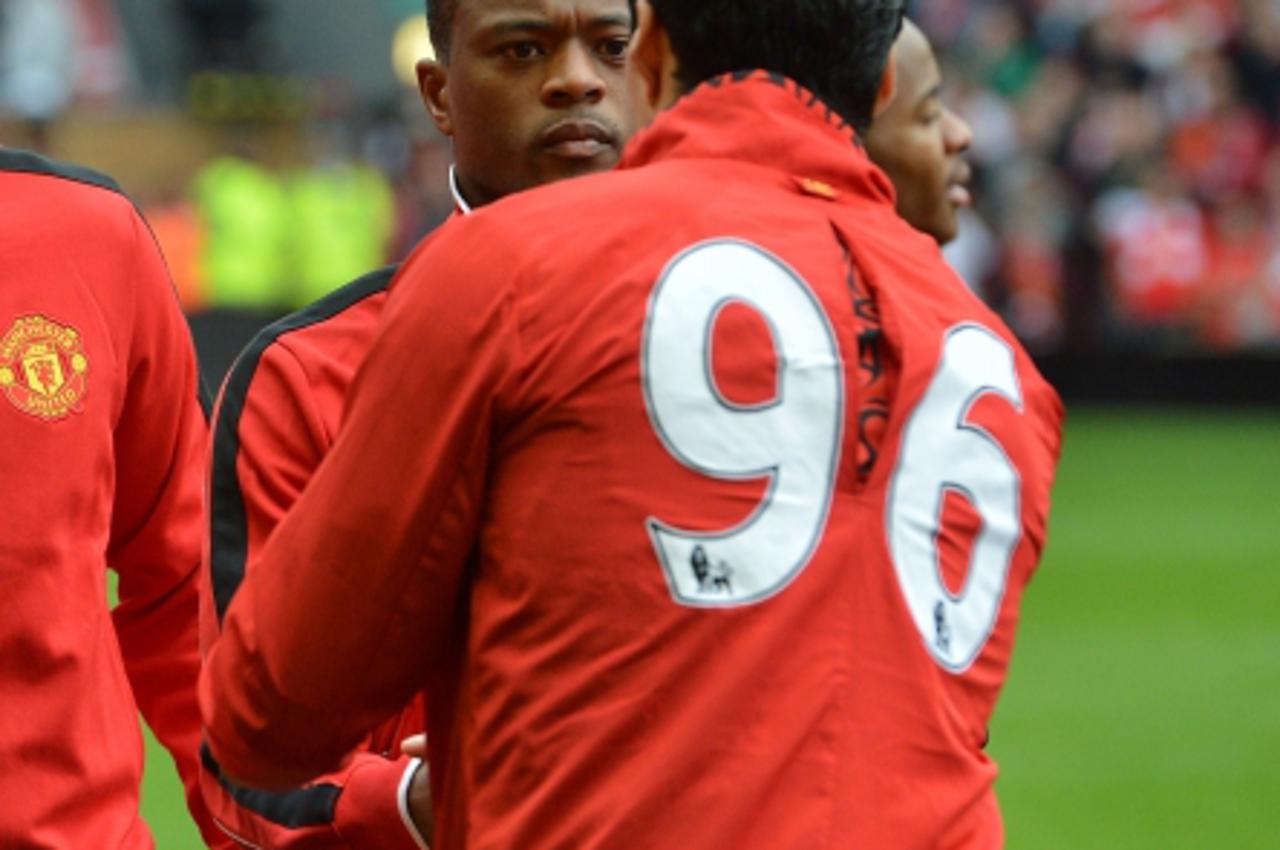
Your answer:
[[[1280,849],[1280,412],[1071,411],[991,746],[1012,850]]]

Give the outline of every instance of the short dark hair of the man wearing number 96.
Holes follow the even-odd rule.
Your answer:
[[[686,88],[739,70],[790,77],[865,132],[904,0],[650,0]]]

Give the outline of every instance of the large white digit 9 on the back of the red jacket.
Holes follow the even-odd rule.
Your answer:
[[[735,405],[716,387],[712,335],[730,303],[755,310],[769,328],[777,394],[764,405]],[[744,242],[705,242],[676,257],[654,288],[641,376],[654,430],[681,463],[717,479],[769,477],[760,504],[731,529],[649,518],[672,595],[719,607],[778,593],[809,562],[831,508],[844,370],[827,314],[777,257]]]

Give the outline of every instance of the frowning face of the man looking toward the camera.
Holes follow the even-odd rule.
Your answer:
[[[470,202],[617,163],[631,27],[627,0],[460,0],[436,123]]]

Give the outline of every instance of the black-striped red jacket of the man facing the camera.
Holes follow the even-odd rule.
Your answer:
[[[210,580],[201,597],[206,650],[246,568],[333,443],[394,271],[372,273],[268,326],[223,384],[210,476]],[[416,850],[424,845],[401,800],[417,762],[392,754],[424,723],[416,698],[367,736],[344,769],[278,794],[237,787],[206,753],[205,799],[223,828],[252,846]]]

